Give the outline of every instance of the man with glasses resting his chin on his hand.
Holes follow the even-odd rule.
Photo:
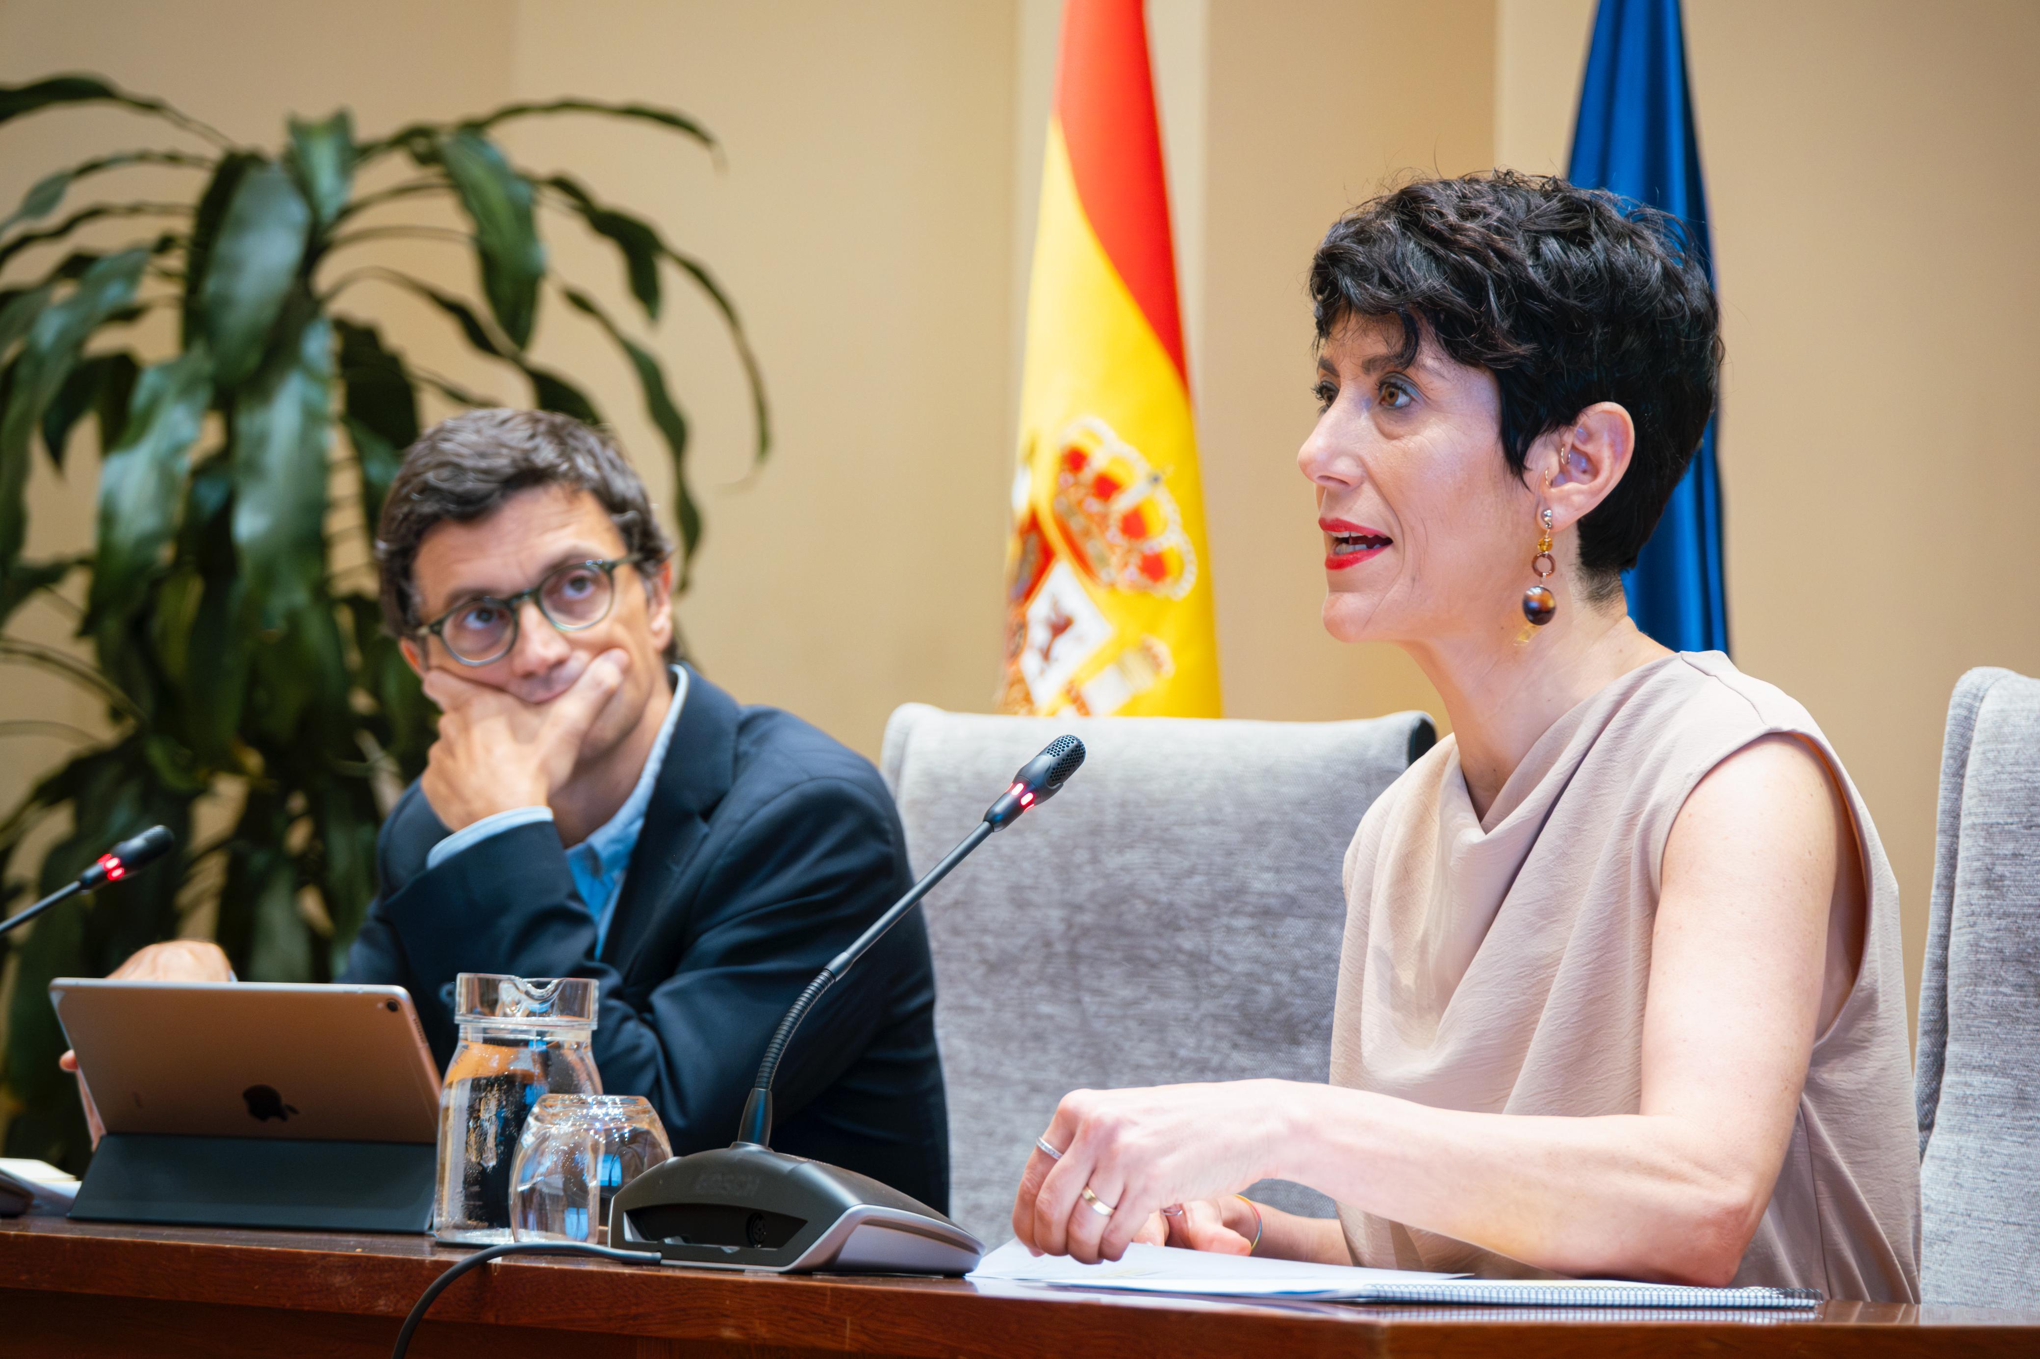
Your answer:
[[[457,972],[596,978],[604,1090],[647,1096],[675,1153],[726,1145],[785,1007],[912,882],[877,770],[679,662],[671,548],[630,465],[575,420],[428,430],[377,554],[384,619],[441,719],[341,980],[408,988],[445,1064]],[[155,945],[131,968],[224,958]],[[918,915],[816,1004],[775,1110],[777,1149],[947,1206]]]

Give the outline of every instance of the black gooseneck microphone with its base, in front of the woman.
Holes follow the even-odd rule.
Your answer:
[[[736,1141],[655,1165],[610,1200],[610,1249],[657,1251],[669,1263],[808,1273],[967,1273],[983,1243],[934,1208],[869,1176],[771,1149],[771,1086],[806,1013],[900,917],[977,846],[1055,797],[1083,764],[1083,742],[1059,736],[1020,766],[940,864],[800,992],[779,1021],[745,1102]]]

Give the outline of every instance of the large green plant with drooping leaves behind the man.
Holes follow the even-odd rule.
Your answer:
[[[143,943],[173,937],[182,911],[216,886],[216,939],[257,980],[333,974],[373,894],[375,789],[412,778],[432,713],[381,632],[367,560],[384,493],[418,436],[420,391],[486,405],[390,344],[349,310],[379,279],[422,297],[459,336],[530,383],[532,405],[600,422],[567,377],[528,357],[541,300],[557,291],[622,350],[673,458],[679,585],[702,542],[687,489],[687,420],[659,361],[583,289],[549,269],[547,212],[616,249],[630,295],[655,322],[669,273],[720,312],[751,381],[757,450],[769,446],[763,385],[728,295],[661,232],[575,179],[520,169],[492,139],[516,118],[602,114],[669,128],[710,153],[692,118],[641,104],[512,104],[461,122],[418,122],[361,141],[343,110],[292,118],[282,149],[243,147],[161,100],[90,75],[0,88],[0,122],[114,104],[169,122],[204,151],[114,151],[59,169],[0,220],[0,664],[53,670],[104,701],[94,740],[0,821],[0,907],[75,876],[106,844],[163,823],[177,868],[139,874],[90,907],[55,911],[16,945],[6,1013],[6,1151],[78,1165],[88,1155],[45,988],[100,976]],[[94,202],[51,222],[69,192],[131,167],[194,173],[190,202]],[[363,187],[363,171],[375,171]],[[469,232],[388,222],[449,200]],[[363,224],[361,214],[392,206]],[[73,232],[137,218],[122,249],[80,249]],[[45,224],[49,222],[49,224]],[[96,226],[96,240],[104,226]],[[457,236],[473,251],[481,306],[377,263],[377,242]],[[84,236],[80,236],[84,238]],[[53,247],[33,251],[33,247]],[[57,251],[55,263],[47,263]],[[384,247],[388,249],[388,247]],[[16,261],[43,261],[39,273]],[[10,279],[8,271],[22,277]],[[151,312],[177,322],[175,352],[143,357],[124,328]],[[102,465],[90,550],[29,560],[24,489],[35,444],[61,471],[73,430],[94,420]],[[345,432],[345,440],[335,434]],[[339,509],[357,501],[359,513]],[[339,528],[337,528],[339,526]],[[353,538],[353,542],[347,542]],[[8,634],[37,595],[75,607],[92,660]],[[349,585],[353,581],[353,585]],[[0,725],[0,736],[41,723]],[[231,829],[190,844],[194,803],[239,799]],[[45,817],[69,829],[10,878]],[[4,956],[0,956],[4,960]]]

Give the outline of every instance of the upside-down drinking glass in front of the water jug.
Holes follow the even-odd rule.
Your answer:
[[[549,1094],[516,1143],[510,1229],[518,1241],[608,1241],[610,1200],[673,1155],[653,1106],[632,1094]]]

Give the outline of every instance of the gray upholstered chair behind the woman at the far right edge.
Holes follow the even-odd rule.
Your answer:
[[[1971,670],[1920,980],[1920,1292],[2040,1300],[2040,681]]]

